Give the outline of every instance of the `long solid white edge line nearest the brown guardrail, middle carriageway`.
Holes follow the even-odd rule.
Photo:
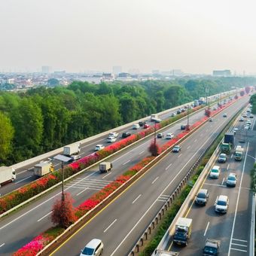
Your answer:
[[[225,121],[223,121],[219,126],[221,127],[221,125],[223,125]],[[218,128],[216,130],[218,130]],[[213,137],[213,133],[212,133],[212,136],[209,136],[208,139],[206,139],[206,142],[203,143],[203,145],[197,150],[200,151],[201,148],[203,148],[204,145],[206,145],[206,143],[209,141],[209,139],[211,139]],[[194,158],[194,156],[197,154],[197,152],[194,153],[194,155],[192,157],[190,157],[190,159],[187,161],[187,163],[180,169],[180,171],[175,175],[174,178],[172,178],[172,181],[163,189],[163,192],[172,184],[173,181],[175,181],[175,178],[177,178],[178,175],[180,175],[180,173],[183,171],[183,169],[187,166],[187,164],[190,162],[191,159]],[[164,193],[161,193],[161,194],[164,194]],[[158,200],[158,198],[157,198]],[[154,203],[157,203],[157,200],[154,201]],[[139,222],[142,221],[142,219],[145,217],[145,215],[147,215],[147,213],[151,210],[151,208],[154,206],[154,203],[151,204],[151,206],[148,208],[148,210],[144,213],[144,215],[142,215],[141,218],[139,218],[139,221],[136,222],[136,224],[133,226],[133,228],[126,234],[126,236],[123,238],[123,240],[119,243],[119,245],[117,245],[117,247],[114,249],[114,251],[110,254],[110,256],[114,255],[115,252],[120,248],[120,245],[123,244],[123,242],[127,239],[128,236],[130,236],[130,233],[133,232],[133,230],[138,226]]]

